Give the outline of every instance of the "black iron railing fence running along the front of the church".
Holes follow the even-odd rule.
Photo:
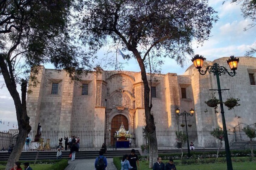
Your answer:
[[[228,131],[229,146],[239,147],[243,145],[242,142],[248,142],[249,138],[242,131],[247,125],[244,123],[238,123],[234,130]],[[254,127],[254,124],[250,125]],[[185,132],[185,131],[184,131]],[[65,147],[64,137],[70,138],[71,136],[76,136],[80,139],[80,150],[100,150],[103,143],[107,145],[108,149],[114,149],[114,145],[111,144],[110,131],[42,131],[41,141],[34,142],[36,131],[31,131],[29,133],[29,138],[31,142],[29,144],[28,150],[56,150],[59,145],[59,139],[62,138],[63,147]],[[176,140],[175,131],[157,131],[157,141],[158,149],[177,149],[178,141]],[[10,131],[0,131],[0,147],[8,149],[11,144],[16,143],[18,137],[18,130]],[[140,147],[136,144],[136,141],[142,140],[142,136],[135,136],[133,134],[133,147]],[[220,146],[219,140],[211,135],[211,131],[188,131],[189,143],[193,142],[195,148],[218,148]],[[113,139],[112,139],[113,140]],[[143,138],[143,144],[146,144],[146,139]],[[254,140],[255,141],[255,140]],[[185,143],[183,148],[187,147]],[[222,147],[224,148],[224,141]],[[25,150],[25,146],[23,148]]]

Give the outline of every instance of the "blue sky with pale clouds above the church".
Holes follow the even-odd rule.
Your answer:
[[[209,1],[209,5],[215,11],[218,11],[219,20],[213,24],[210,34],[211,37],[203,43],[202,47],[197,48],[197,44],[193,44],[194,53],[203,55],[206,60],[210,61],[231,55],[235,57],[244,56],[246,51],[250,50],[250,47],[256,48],[255,28],[244,31],[244,28],[251,23],[251,20],[242,17],[239,5],[227,2],[222,5],[222,2],[223,0]],[[122,52],[128,54],[128,51]],[[103,55],[104,51],[101,51],[101,54]],[[122,62],[123,58],[121,56],[118,57],[118,60]],[[254,57],[256,57],[256,54],[254,54]],[[190,58],[187,58],[182,68],[174,60],[167,59],[162,66],[162,73],[177,73],[178,75],[182,75],[191,64]],[[49,68],[51,66],[45,67]],[[128,65],[125,65],[123,70],[140,71],[135,59],[129,60]],[[239,71],[239,68],[237,71]],[[0,87],[3,83],[3,77],[0,76]],[[18,86],[17,89],[20,91],[21,87]],[[0,131],[13,129],[13,125],[15,129],[17,124],[14,102],[7,88],[0,88]]]

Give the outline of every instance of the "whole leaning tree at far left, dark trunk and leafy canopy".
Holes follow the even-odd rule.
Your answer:
[[[1,0],[0,1],[0,75],[14,100],[19,134],[6,165],[10,169],[18,161],[25,138],[30,132],[26,110],[28,76],[31,70],[39,73],[40,64],[53,63],[65,69],[75,80],[84,66],[86,57],[72,43],[70,29],[71,0]],[[25,63],[25,64],[22,64]],[[35,66],[35,67],[34,67]],[[35,76],[30,85],[36,85]],[[17,91],[21,84],[21,97]]]

